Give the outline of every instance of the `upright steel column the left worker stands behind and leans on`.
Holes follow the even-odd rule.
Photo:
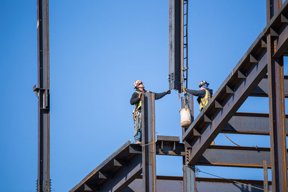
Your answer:
[[[143,192],[156,192],[155,98],[142,95]]]

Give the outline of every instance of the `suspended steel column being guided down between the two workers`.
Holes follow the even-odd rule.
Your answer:
[[[181,91],[181,0],[169,0],[169,89]]]

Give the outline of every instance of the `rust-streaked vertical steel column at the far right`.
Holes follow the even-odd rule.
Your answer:
[[[282,5],[282,0],[267,0],[267,23]],[[269,128],[273,192],[288,187],[287,148],[285,127],[284,63],[283,56],[273,58],[277,38],[267,36]]]

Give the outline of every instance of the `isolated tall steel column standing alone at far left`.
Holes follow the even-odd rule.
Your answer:
[[[49,5],[37,0],[38,33],[38,179],[37,192],[50,192],[50,80],[49,80]]]

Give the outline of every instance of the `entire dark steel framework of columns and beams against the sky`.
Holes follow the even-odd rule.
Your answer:
[[[188,76],[186,72],[184,78],[184,71],[188,69],[187,7],[187,0],[169,0],[169,87],[179,92]],[[38,96],[37,191],[49,192],[48,0],[37,1],[37,17],[38,87],[33,87]],[[284,76],[283,70],[283,57],[288,55],[287,50],[288,1],[283,4],[282,0],[267,0],[267,26],[191,126],[183,128],[182,143],[180,137],[175,136],[157,136],[155,139],[154,94],[145,93],[142,96],[143,145],[127,141],[70,192],[155,192],[164,189],[167,192],[196,192],[196,186],[198,192],[257,192],[251,186],[266,191],[288,192],[288,117],[285,114],[288,77]],[[249,96],[269,97],[269,114],[237,113]],[[194,119],[191,95],[182,98],[182,107],[184,105],[192,110]],[[211,146],[210,143],[221,132],[270,135],[271,147]],[[182,156],[183,177],[156,176],[156,155]],[[196,164],[264,168],[264,181],[195,178]],[[267,182],[267,168],[272,169],[272,182]],[[241,184],[233,183],[235,181]]]

